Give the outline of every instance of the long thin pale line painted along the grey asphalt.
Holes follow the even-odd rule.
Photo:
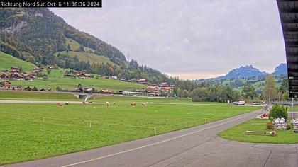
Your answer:
[[[255,113],[255,112],[253,112],[253,113]],[[71,163],[71,164],[68,164],[68,165],[65,165],[65,166],[61,166],[61,167],[76,166],[76,165],[79,165],[79,164],[82,164],[82,163],[87,163],[87,162],[91,162],[91,161],[96,161],[96,160],[104,159],[104,158],[107,158],[107,157],[110,157],[110,156],[116,156],[116,155],[118,155],[118,154],[123,154],[123,153],[131,152],[131,151],[135,151],[135,150],[138,150],[138,149],[143,149],[143,148],[146,148],[146,147],[149,147],[149,146],[155,146],[155,145],[157,145],[157,144],[161,144],[161,143],[164,143],[164,142],[169,142],[169,141],[172,141],[172,140],[174,140],[174,139],[178,139],[178,138],[181,138],[181,137],[188,136],[188,135],[190,135],[190,134],[195,134],[195,133],[198,133],[198,132],[202,132],[202,131],[204,131],[204,130],[206,130],[206,129],[211,129],[211,128],[214,128],[214,127],[219,127],[219,126],[221,126],[221,125],[225,125],[225,124],[227,124],[227,123],[229,123],[229,122],[233,122],[233,121],[235,121],[235,120],[240,120],[240,119],[242,119],[242,118],[244,118],[244,117],[248,117],[248,116],[252,115],[253,113],[250,113],[249,115],[245,115],[245,116],[243,116],[243,117],[238,117],[238,118],[233,119],[233,120],[229,120],[229,121],[227,121],[227,122],[223,122],[223,123],[221,123],[221,124],[219,124],[219,125],[214,125],[214,126],[211,126],[211,127],[206,127],[206,128],[204,128],[204,129],[200,129],[200,130],[197,130],[197,131],[194,131],[194,132],[190,132],[190,133],[187,133],[187,134],[182,134],[182,135],[180,135],[180,136],[172,137],[172,138],[170,138],[170,139],[165,139],[165,140],[162,140],[162,141],[160,141],[160,142],[153,143],[153,144],[148,144],[148,145],[145,145],[145,146],[140,146],[140,147],[137,147],[137,148],[135,148],[135,149],[128,149],[128,150],[126,150],[126,151],[120,151],[120,152],[118,152],[118,153],[109,154],[109,155],[106,155],[106,156],[100,156],[100,157],[95,158],[95,159],[89,159],[89,160],[86,160],[86,161],[80,161],[80,162],[77,162],[77,163]]]

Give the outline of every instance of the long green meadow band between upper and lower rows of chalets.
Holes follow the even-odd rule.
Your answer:
[[[144,85],[128,83],[119,80],[111,80],[111,79],[76,79],[76,78],[68,78],[64,77],[65,70],[64,69],[55,69],[50,72],[47,80],[43,79],[35,79],[33,81],[10,81],[11,85],[22,86],[22,88],[26,88],[27,86],[36,86],[38,90],[41,88],[51,88],[52,91],[56,91],[57,86],[64,90],[75,90],[78,84],[82,84],[84,88],[92,87],[96,90],[101,90],[103,88],[109,89],[111,91],[133,91],[138,88],[146,88]]]

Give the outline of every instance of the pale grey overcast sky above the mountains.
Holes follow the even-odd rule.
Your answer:
[[[285,62],[275,0],[103,0],[102,8],[50,8],[129,59],[182,79]],[[129,53],[129,54],[128,54]]]

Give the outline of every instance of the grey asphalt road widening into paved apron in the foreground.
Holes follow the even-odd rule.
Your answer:
[[[298,166],[297,144],[231,142],[216,134],[254,118],[246,113],[206,125],[11,166]]]

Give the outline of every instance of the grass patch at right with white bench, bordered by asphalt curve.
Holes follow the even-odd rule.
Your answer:
[[[231,129],[223,131],[219,136],[223,139],[234,140],[239,142],[250,143],[274,143],[274,144],[297,144],[298,133],[294,133],[293,130],[277,130],[277,134],[272,137],[264,134],[246,134],[245,131],[261,131],[270,132],[272,130],[266,129],[266,123],[270,120],[253,119],[248,122],[244,122],[241,125],[237,125]]]

